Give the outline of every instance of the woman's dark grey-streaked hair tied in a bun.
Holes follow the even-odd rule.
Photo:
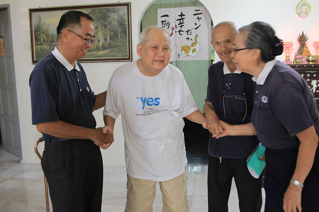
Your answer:
[[[265,22],[256,21],[239,28],[238,31],[248,31],[245,46],[260,49],[263,62],[271,61],[283,52],[282,40],[275,36],[275,31]]]

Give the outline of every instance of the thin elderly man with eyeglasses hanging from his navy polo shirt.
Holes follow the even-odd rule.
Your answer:
[[[233,22],[221,22],[211,32],[211,44],[220,62],[208,70],[204,113],[209,131],[222,131],[219,120],[231,124],[250,122],[253,109],[252,76],[236,70],[230,54],[237,28]],[[246,167],[246,159],[258,145],[256,136],[226,136],[209,139],[208,211],[228,212],[232,179],[237,187],[241,212],[260,212],[261,178],[255,179]]]

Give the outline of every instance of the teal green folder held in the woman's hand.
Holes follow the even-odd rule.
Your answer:
[[[255,178],[259,178],[260,174],[263,171],[263,168],[266,165],[266,161],[259,159],[260,156],[265,155],[265,150],[266,148],[261,145],[261,143],[259,143],[256,149],[249,155],[246,160],[247,168],[250,174]]]

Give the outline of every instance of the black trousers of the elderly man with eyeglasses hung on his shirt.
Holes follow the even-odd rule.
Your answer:
[[[241,212],[260,212],[262,206],[261,183],[251,176],[246,159],[228,159],[209,156],[208,160],[208,211],[228,212],[228,198],[232,179],[235,179]]]

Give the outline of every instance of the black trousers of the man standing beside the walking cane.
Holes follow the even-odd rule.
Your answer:
[[[53,212],[101,211],[103,162],[93,141],[45,141],[41,165]]]

